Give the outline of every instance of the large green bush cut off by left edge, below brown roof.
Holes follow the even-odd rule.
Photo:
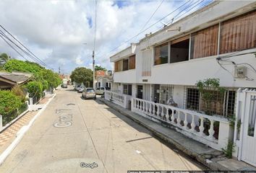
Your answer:
[[[17,116],[22,101],[13,92],[0,90],[0,114],[3,115],[3,124],[7,124]]]

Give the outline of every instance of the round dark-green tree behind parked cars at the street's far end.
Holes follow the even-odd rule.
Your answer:
[[[72,81],[78,84],[85,84],[85,86],[92,86],[93,85],[93,71],[89,68],[85,67],[77,67],[72,71],[70,76]]]

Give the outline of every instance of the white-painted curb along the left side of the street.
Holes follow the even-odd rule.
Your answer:
[[[24,125],[16,133],[16,138],[14,139],[14,141],[12,141],[12,143],[1,154],[1,156],[0,156],[0,165],[3,164],[4,160],[7,159],[7,156],[9,156],[9,154],[11,154],[11,152],[14,150],[14,148],[17,146],[17,144],[20,143],[21,139],[23,138],[23,136],[25,135],[27,130],[35,122],[35,119],[38,118],[43,113],[44,110],[46,110],[46,107],[49,105],[51,100],[54,99],[55,96],[56,96],[56,94],[53,94],[53,97],[51,97],[51,99],[48,100],[46,105],[44,105],[44,107],[41,110],[39,110],[39,112],[32,118],[32,120],[30,120],[30,123],[28,123],[28,125]]]

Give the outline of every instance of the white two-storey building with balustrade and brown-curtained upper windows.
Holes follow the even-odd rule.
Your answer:
[[[256,166],[255,9],[213,1],[132,43],[110,57],[119,92],[105,98],[212,148],[234,141],[234,157]],[[196,85],[206,79],[224,89],[205,89],[210,103]]]

